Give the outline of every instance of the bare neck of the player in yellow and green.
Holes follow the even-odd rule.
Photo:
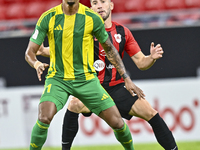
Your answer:
[[[74,5],[70,6],[67,3],[63,3],[62,10],[63,13],[66,15],[74,15],[78,12],[79,3],[75,3]]]

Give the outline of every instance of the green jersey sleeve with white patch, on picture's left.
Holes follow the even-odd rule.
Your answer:
[[[41,45],[47,35],[48,32],[48,22],[46,17],[43,15],[39,18],[35,30],[30,38],[30,41]]]

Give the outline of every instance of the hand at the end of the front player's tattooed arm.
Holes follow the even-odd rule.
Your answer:
[[[126,89],[131,93],[132,96],[137,95],[138,98],[140,99],[144,99],[145,94],[143,93],[143,91],[137,87],[130,79],[130,77],[124,79],[125,81],[125,87]]]

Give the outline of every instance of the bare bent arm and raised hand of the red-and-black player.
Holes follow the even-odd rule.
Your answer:
[[[150,55],[145,56],[142,51],[139,51],[137,54],[133,55],[131,59],[140,70],[147,70],[153,66],[157,59],[162,58],[163,53],[164,51],[161,45],[157,44],[154,46],[152,42],[150,46]]]

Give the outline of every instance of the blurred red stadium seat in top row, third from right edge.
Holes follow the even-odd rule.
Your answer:
[[[162,11],[165,10],[164,5],[165,0],[145,0],[145,10],[146,11]]]

